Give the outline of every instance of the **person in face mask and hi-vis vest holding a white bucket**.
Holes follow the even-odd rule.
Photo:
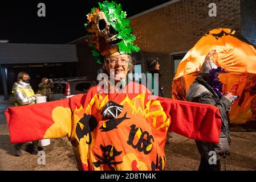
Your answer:
[[[35,104],[35,98],[40,96],[40,94],[35,94],[30,86],[30,76],[26,72],[20,72],[17,76],[17,82],[13,85],[14,94],[14,105],[31,105]],[[21,147],[23,143],[15,144],[15,156],[21,156]],[[38,154],[38,140],[32,141],[32,151],[31,154]]]

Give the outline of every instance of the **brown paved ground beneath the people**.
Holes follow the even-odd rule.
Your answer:
[[[10,144],[9,129],[3,111],[10,103],[0,102],[0,170],[78,170],[72,146],[67,138],[51,139],[51,144],[44,147],[46,165],[39,165],[39,156],[31,155],[23,146],[22,156],[15,157],[13,144]],[[177,134],[170,134],[170,144],[166,145],[166,170],[197,170],[200,155],[194,140]],[[256,170],[256,133],[231,132],[231,155],[227,157],[227,170]],[[29,143],[27,143],[29,144]],[[222,160],[224,164],[224,160]],[[223,169],[224,165],[222,165]]]

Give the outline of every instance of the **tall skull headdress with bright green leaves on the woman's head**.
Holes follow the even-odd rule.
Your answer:
[[[99,3],[99,8],[92,9],[87,15],[86,29],[90,33],[87,42],[94,48],[92,55],[97,62],[101,63],[101,56],[139,51],[139,47],[133,45],[135,36],[131,34],[126,16],[121,5],[113,1]]]

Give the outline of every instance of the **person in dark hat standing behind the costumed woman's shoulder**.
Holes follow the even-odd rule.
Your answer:
[[[152,94],[155,96],[160,96],[160,97],[165,97],[164,96],[164,88],[161,85],[161,81],[160,81],[160,64],[159,64],[159,59],[158,58],[148,58],[147,60],[147,71],[145,72],[145,75],[147,77],[149,77],[149,79],[147,79],[147,82],[149,82],[149,84],[147,85],[151,85],[151,88],[148,88],[149,90],[151,90]],[[154,82],[154,74],[157,73],[159,75],[159,79],[158,81],[158,93],[156,92],[156,88],[154,87],[155,82]],[[156,84],[157,85],[157,84]]]

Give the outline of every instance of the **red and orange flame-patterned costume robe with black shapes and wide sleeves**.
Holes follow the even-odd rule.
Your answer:
[[[9,107],[6,117],[11,142],[68,137],[80,170],[164,170],[167,132],[218,142],[218,107],[158,97],[135,82],[140,93],[100,94],[97,87],[66,100]],[[131,88],[131,87],[130,87]],[[123,106],[113,119],[104,119],[104,106]],[[23,111],[26,110],[26,114]]]

